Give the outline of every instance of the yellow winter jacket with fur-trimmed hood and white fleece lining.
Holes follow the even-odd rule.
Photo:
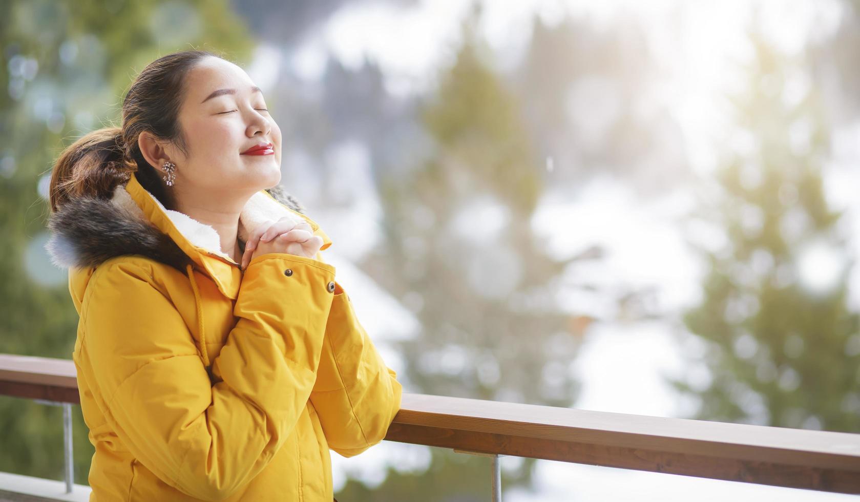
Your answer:
[[[240,242],[292,214],[329,248],[273,193],[249,200]],[[263,254],[243,272],[212,227],[134,175],[49,226],[80,315],[91,500],[330,501],[329,449],[355,456],[384,438],[402,386],[321,253]]]

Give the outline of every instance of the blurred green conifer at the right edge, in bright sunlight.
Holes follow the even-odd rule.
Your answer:
[[[808,61],[753,41],[747,91],[731,99],[752,146],[726,160],[718,195],[701,209],[719,215],[727,245],[704,254],[703,302],[685,315],[707,346],[692,364],[706,364],[712,380],[703,389],[673,383],[701,400],[692,418],[860,432],[860,351],[850,348],[858,315],[846,301],[853,260],[839,257],[844,271],[826,290],[803,280],[809,245],[845,249],[821,180],[829,148],[821,96],[813,85],[787,98],[789,78]]]

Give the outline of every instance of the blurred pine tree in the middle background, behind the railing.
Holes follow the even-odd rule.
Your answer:
[[[464,41],[422,107],[432,154],[381,181],[384,243],[362,268],[421,322],[400,346],[415,392],[571,406],[568,366],[579,340],[553,288],[554,261],[530,218],[543,192],[519,101],[464,21]],[[426,472],[390,469],[372,492],[349,481],[338,499],[486,500],[488,458],[431,449]],[[504,472],[503,489],[531,485],[533,459]]]

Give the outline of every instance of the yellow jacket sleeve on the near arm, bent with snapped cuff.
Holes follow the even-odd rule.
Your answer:
[[[307,406],[335,267],[292,254],[251,260],[212,384],[151,264],[106,265],[88,286],[83,376],[146,468],[192,497],[229,497],[266,467]]]

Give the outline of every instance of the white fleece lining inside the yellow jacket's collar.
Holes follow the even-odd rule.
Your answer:
[[[198,248],[206,249],[206,251],[232,260],[228,254],[221,251],[221,237],[218,236],[218,230],[213,229],[211,225],[200,223],[185,213],[165,208],[161,201],[156,199],[152,193],[145,189],[144,192],[164,211],[167,217],[170,218],[170,221],[176,226],[176,230],[179,230],[188,242],[191,242]],[[114,196],[111,198],[111,202],[120,210],[128,211],[140,219],[146,219],[144,211],[141,211],[134,202],[125,185],[119,185],[114,188]],[[292,211],[289,211],[265,193],[255,193],[248,199],[248,202],[245,203],[242,212],[239,214],[239,240],[247,242],[250,231],[254,230],[257,225],[266,223],[267,221],[278,221],[282,217],[298,218]]]

